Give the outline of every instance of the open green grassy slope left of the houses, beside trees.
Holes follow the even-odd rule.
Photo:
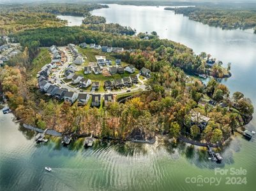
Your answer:
[[[36,73],[40,71],[41,67],[51,62],[50,53],[47,48],[41,48],[40,53],[32,60],[31,74],[36,76]]]

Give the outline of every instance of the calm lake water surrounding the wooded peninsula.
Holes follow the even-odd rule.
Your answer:
[[[223,81],[232,92],[241,91],[252,99],[256,108],[256,35],[252,31],[222,31],[174,15],[163,7],[120,6],[94,10],[93,15],[131,26],[137,31],[156,31],[160,38],[179,41],[195,53],[232,62],[232,77]],[[256,115],[246,125],[256,127]],[[60,139],[36,145],[33,132],[12,122],[13,115],[0,111],[0,190],[254,190],[256,139],[246,141],[237,135],[222,151],[222,164],[207,160],[207,153],[184,144],[140,145],[96,143],[84,150],[82,140],[68,147]],[[47,173],[43,168],[52,167]],[[229,170],[215,174],[215,168]],[[246,185],[226,184],[230,168],[246,169]],[[215,183],[191,183],[193,178],[222,178]],[[239,175],[232,175],[237,183]],[[190,183],[186,183],[190,181]]]

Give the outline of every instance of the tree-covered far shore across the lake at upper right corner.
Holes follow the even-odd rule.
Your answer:
[[[183,14],[191,20],[199,21],[222,29],[252,29],[256,26],[256,9],[240,10],[220,7],[195,6],[186,8],[165,8],[176,14]],[[256,29],[255,29],[256,32]]]

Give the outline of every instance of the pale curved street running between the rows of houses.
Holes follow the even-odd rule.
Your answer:
[[[66,88],[68,89],[68,91],[70,92],[81,92],[79,90],[79,88],[74,88],[74,87],[70,87],[68,84],[69,83],[65,83],[63,81],[63,78],[61,78],[61,72],[64,71],[64,69],[68,66],[68,64],[70,64],[70,62],[72,62],[72,58],[70,57],[69,53],[66,52],[64,47],[59,47],[59,50],[62,50],[67,59],[66,62],[63,64],[63,66],[59,66],[59,69],[56,70],[55,76],[56,76],[56,81],[55,84],[59,85],[59,87],[61,88]],[[139,78],[140,74],[137,74],[138,80],[141,84],[136,84],[137,87],[135,88],[129,88],[130,92],[138,92],[139,90],[146,90],[146,85],[144,85],[144,82],[146,81],[146,79],[144,80],[140,80]],[[89,91],[84,91],[90,94],[101,94],[101,95],[105,95],[105,94],[124,94],[127,92],[127,90],[119,90],[119,91],[110,91],[108,90],[108,92],[89,92]]]

